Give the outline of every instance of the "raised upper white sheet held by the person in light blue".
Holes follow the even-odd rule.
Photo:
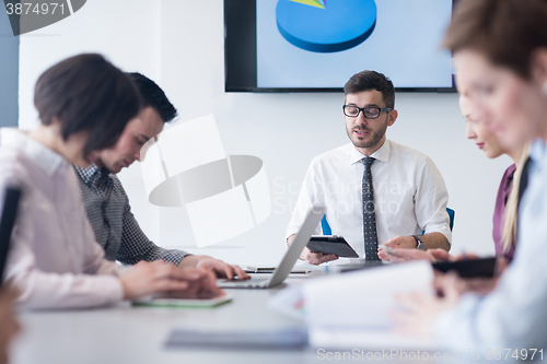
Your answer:
[[[304,284],[309,325],[356,329],[388,329],[396,296],[431,293],[433,269],[427,261],[386,265],[327,275]]]

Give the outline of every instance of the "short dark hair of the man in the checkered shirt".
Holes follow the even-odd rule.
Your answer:
[[[138,72],[127,73],[127,75],[139,87],[143,101],[142,107],[153,107],[165,122],[176,117],[175,106],[171,104],[163,90],[154,81]]]

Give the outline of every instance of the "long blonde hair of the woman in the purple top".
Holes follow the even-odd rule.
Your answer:
[[[516,167],[513,175],[513,188],[508,198],[508,203],[505,204],[505,212],[503,219],[503,232],[501,235],[501,240],[503,242],[503,253],[508,253],[511,249],[513,242],[516,242],[516,233],[519,226],[519,188],[521,186],[521,176],[524,168],[524,164],[529,155],[529,143],[524,146],[522,151],[521,160],[519,161],[519,166]]]

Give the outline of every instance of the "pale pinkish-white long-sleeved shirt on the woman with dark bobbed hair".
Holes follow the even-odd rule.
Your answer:
[[[16,129],[1,129],[0,196],[23,195],[11,239],[7,279],[27,308],[91,307],[123,300],[117,274],[103,259],[72,168],[61,155]]]

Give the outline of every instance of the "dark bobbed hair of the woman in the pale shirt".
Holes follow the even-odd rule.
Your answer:
[[[42,73],[34,105],[44,125],[58,120],[65,141],[88,130],[83,155],[116,143],[127,122],[140,110],[133,82],[103,56],[67,58]]]

